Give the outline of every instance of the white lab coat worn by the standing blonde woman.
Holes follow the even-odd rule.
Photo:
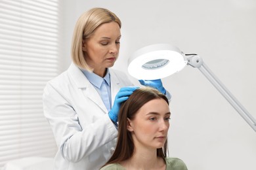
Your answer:
[[[133,86],[127,75],[110,69],[112,104],[121,87]],[[117,129],[100,95],[73,63],[49,81],[43,110],[56,139],[58,170],[99,169],[116,146]]]

